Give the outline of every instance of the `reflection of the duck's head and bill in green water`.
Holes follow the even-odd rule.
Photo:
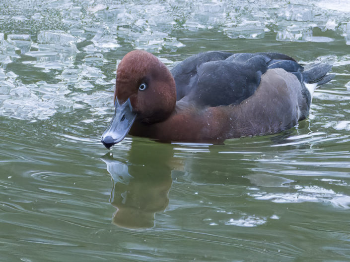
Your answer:
[[[112,222],[118,226],[153,227],[155,212],[165,210],[169,203],[172,150],[154,144],[157,143],[133,143],[128,164],[114,159],[112,154],[102,157],[114,182],[110,202],[117,208]]]

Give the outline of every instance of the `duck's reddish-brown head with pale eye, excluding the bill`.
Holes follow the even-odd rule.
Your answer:
[[[127,53],[118,65],[114,98],[131,105],[143,122],[166,119],[176,104],[175,81],[169,69],[153,54]]]

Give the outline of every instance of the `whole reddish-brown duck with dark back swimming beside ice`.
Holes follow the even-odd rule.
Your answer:
[[[302,66],[277,52],[201,52],[171,70],[135,50],[120,61],[115,112],[101,142],[110,149],[127,134],[160,142],[222,144],[268,135],[307,118],[314,90],[331,64]]]

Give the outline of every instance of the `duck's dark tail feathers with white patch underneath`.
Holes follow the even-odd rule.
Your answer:
[[[326,63],[315,63],[304,67],[301,74],[311,96],[317,87],[326,84],[335,77],[336,74],[329,74],[331,69],[332,65]]]

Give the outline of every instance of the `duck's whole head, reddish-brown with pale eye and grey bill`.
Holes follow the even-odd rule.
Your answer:
[[[118,65],[114,101],[115,114],[101,138],[108,149],[124,139],[135,120],[152,124],[169,117],[176,104],[174,78],[153,54],[129,52]]]

